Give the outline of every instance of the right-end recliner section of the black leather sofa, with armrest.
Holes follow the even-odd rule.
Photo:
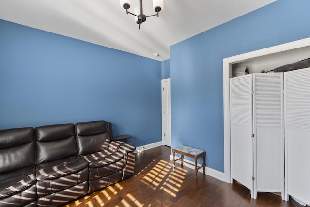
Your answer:
[[[106,121],[77,123],[75,127],[78,155],[89,162],[88,192],[122,180],[127,154],[132,151],[134,155],[135,147],[123,142],[111,142],[112,129]],[[127,146],[126,150],[122,150],[123,145]],[[134,162],[131,165],[134,168]]]

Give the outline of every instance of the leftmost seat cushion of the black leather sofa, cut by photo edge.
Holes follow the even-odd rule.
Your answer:
[[[0,198],[11,196],[34,185],[35,167],[0,174]],[[35,192],[34,192],[35,193]]]

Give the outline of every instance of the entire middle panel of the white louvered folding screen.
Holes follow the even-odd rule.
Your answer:
[[[284,200],[283,73],[253,74],[254,198],[280,192]]]

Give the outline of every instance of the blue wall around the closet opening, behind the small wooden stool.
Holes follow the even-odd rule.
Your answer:
[[[310,37],[309,9],[278,0],[171,46],[172,147],[202,148],[224,172],[223,58]]]

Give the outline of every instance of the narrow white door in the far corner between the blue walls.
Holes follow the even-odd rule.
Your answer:
[[[170,78],[161,80],[162,143],[171,146],[171,84]]]

